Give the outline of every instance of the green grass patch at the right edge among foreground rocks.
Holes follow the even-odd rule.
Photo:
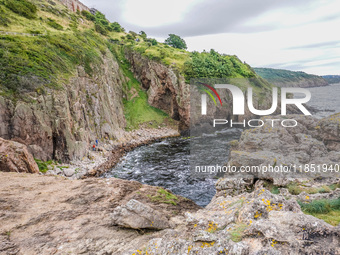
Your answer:
[[[310,203],[298,201],[304,213],[337,226],[340,223],[340,197],[332,200],[314,200]]]

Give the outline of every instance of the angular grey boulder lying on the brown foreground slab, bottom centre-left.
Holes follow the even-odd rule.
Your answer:
[[[137,200],[115,209],[111,215],[114,225],[133,229],[166,229],[169,221],[161,213]]]

